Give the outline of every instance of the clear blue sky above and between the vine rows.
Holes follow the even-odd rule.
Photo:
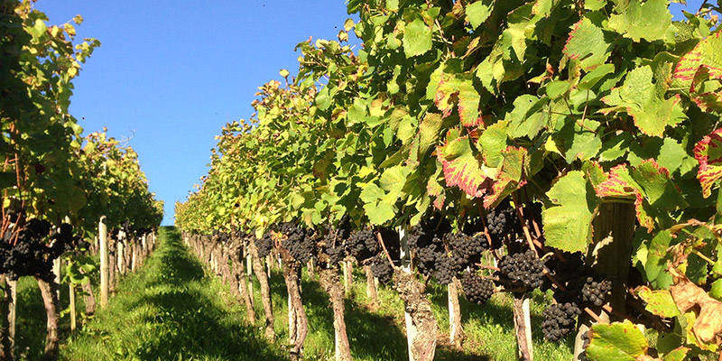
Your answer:
[[[688,1],[695,13],[701,0]],[[682,5],[673,4],[679,14]],[[107,126],[131,138],[150,188],[173,205],[208,173],[214,135],[247,119],[256,88],[298,70],[293,48],[336,39],[349,17],[342,0],[39,0],[50,23],[81,14],[79,38],[102,42],[74,81],[70,113],[86,134]]]

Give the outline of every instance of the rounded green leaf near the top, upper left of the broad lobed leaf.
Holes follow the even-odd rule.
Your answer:
[[[574,24],[569,39],[564,46],[564,54],[569,59],[579,60],[581,68],[589,71],[604,64],[611,54],[612,42],[591,20],[584,18]]]

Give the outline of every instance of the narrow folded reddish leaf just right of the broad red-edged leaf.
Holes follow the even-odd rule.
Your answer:
[[[496,173],[492,192],[484,198],[486,208],[495,208],[504,197],[526,184],[523,179],[529,162],[526,149],[508,146],[502,151],[502,156],[504,161]]]

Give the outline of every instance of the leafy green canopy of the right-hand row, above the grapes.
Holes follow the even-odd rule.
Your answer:
[[[299,44],[298,75],[223,129],[177,224],[457,222],[517,195],[544,205],[546,245],[586,252],[598,205],[634,202],[645,282],[717,282],[719,9],[671,22],[667,5],[351,1],[363,47]]]

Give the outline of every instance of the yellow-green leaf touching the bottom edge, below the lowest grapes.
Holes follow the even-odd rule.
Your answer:
[[[589,333],[587,356],[592,360],[634,361],[647,353],[649,344],[634,323],[597,324]]]

